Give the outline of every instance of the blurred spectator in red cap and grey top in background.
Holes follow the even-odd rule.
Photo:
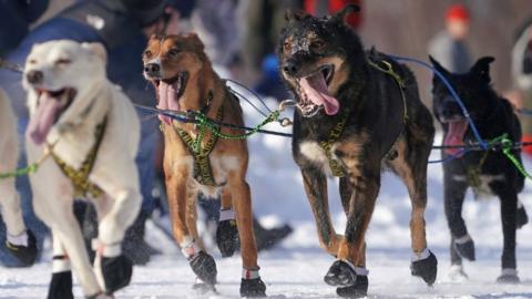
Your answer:
[[[451,72],[464,73],[471,66],[466,44],[470,29],[470,14],[462,4],[451,6],[446,13],[446,30],[429,42],[429,54]]]

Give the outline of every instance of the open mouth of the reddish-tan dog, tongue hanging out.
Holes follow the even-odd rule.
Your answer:
[[[180,72],[176,76],[167,80],[153,80],[157,89],[157,109],[180,111],[180,99],[185,93],[187,72]],[[158,115],[158,118],[165,124],[172,124],[172,118]]]

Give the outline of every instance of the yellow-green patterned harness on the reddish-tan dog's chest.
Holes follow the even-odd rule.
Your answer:
[[[223,106],[218,109],[216,121],[223,118]],[[213,175],[213,167],[211,166],[211,153],[213,152],[216,142],[218,141],[219,128],[214,128],[211,138],[203,146],[205,138],[206,126],[200,126],[200,132],[196,138],[193,138],[185,130],[174,125],[175,132],[180,135],[181,141],[186,145],[188,152],[194,158],[194,179],[205,186],[221,187],[224,184],[216,184]],[[203,147],[202,147],[203,146]]]

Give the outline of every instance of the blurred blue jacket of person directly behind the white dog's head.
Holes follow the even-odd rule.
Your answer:
[[[89,2],[89,1],[88,1]],[[154,91],[142,76],[142,52],[146,39],[134,22],[123,19],[119,22],[109,22],[113,34],[102,33],[103,30],[76,20],[69,14],[71,11],[83,11],[85,2],[74,4],[72,8],[60,13],[58,17],[42,23],[31,31],[21,44],[7,55],[7,60],[23,65],[31,48],[35,43],[69,39],[79,42],[101,42],[108,49],[109,79],[121,85],[123,91],[134,103],[145,105],[154,104]],[[78,12],[76,11],[76,12]],[[110,13],[111,17],[115,14]],[[137,30],[135,30],[137,29]],[[110,31],[108,30],[108,31]],[[123,33],[122,33],[123,32]],[[120,34],[120,37],[117,37]],[[106,37],[111,37],[108,40]],[[115,38],[116,37],[116,38]],[[22,90],[21,75],[8,70],[0,70],[0,86],[3,87],[11,101],[19,117],[27,117],[25,93]]]

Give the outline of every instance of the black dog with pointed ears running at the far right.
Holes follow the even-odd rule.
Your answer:
[[[434,68],[453,85],[468,109],[480,135],[493,140],[508,134],[512,142],[521,141],[521,125],[512,105],[500,97],[491,86],[490,63],[493,58],[480,59],[468,73],[453,74],[431,58]],[[462,145],[475,142],[468,121],[444,84],[434,76],[433,112],[444,131],[444,145]],[[459,148],[448,148],[442,155],[458,155]],[[512,154],[521,161],[521,150]],[[515,262],[515,229],[528,221],[526,212],[520,205],[518,194],[523,189],[524,177],[502,152],[469,152],[460,158],[443,164],[446,216],[451,230],[451,276],[464,276],[462,258],[474,260],[474,244],[462,218],[462,205],[468,188],[477,196],[497,195],[501,200],[502,275],[500,282],[518,282]]]

